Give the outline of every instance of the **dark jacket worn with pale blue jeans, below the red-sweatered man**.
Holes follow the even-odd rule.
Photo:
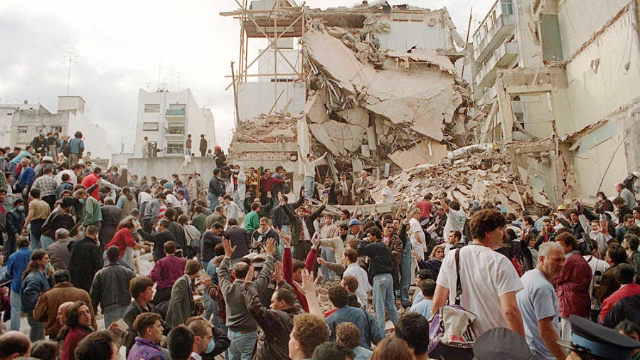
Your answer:
[[[110,305],[127,305],[131,302],[129,281],[136,277],[134,270],[119,263],[108,263],[105,268],[98,271],[91,285],[91,304],[97,312],[97,306],[102,311]]]

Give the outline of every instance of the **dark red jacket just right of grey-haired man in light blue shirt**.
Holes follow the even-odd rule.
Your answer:
[[[591,312],[591,267],[580,253],[575,252],[565,260],[562,275],[554,281],[560,305],[560,317],[577,315],[588,317]]]

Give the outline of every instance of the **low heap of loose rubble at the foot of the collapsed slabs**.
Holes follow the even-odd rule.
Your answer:
[[[515,169],[514,169],[515,168]],[[549,206],[542,191],[535,189],[521,168],[511,164],[496,144],[478,144],[449,152],[438,165],[423,164],[392,176],[395,201],[419,201],[428,192],[438,198],[452,191],[469,208],[473,201],[484,206],[501,201],[509,213]],[[524,180],[523,180],[524,179]],[[379,201],[386,180],[372,189]]]

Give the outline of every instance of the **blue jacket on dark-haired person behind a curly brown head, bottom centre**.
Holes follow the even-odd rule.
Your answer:
[[[336,327],[343,322],[353,322],[360,329],[360,346],[365,349],[371,349],[371,343],[378,344],[380,340],[385,338],[384,329],[380,329],[380,325],[373,319],[373,315],[365,309],[345,306],[337,309],[326,318],[326,324],[331,330],[329,339],[332,342],[336,341]]]

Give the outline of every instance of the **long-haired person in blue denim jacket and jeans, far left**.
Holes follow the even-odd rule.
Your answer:
[[[47,255],[46,251],[36,250],[31,254],[31,262],[22,273],[20,297],[22,299],[22,311],[26,312],[27,322],[31,327],[29,329],[31,342],[44,340],[44,323],[36,322],[36,319],[33,319],[33,310],[36,309],[41,292],[49,290],[53,286],[53,281],[51,280],[53,267],[48,269],[48,274],[45,273],[48,263],[49,255]]]

